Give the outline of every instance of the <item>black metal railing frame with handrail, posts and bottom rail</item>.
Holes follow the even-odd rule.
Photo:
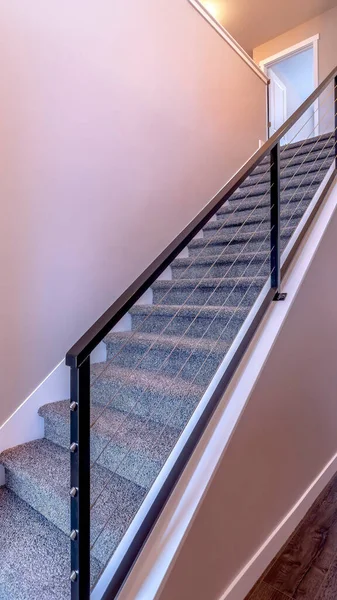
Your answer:
[[[189,244],[211,217],[239,188],[242,182],[267,156],[270,156],[270,219],[271,219],[271,281],[252,323],[236,348],[228,368],[216,387],[207,407],[193,427],[193,431],[180,449],[170,473],[158,494],[148,506],[145,518],[124,552],[109,586],[109,598],[115,597],[125,580],[139,550],[160,514],[197,442],[212,416],[215,407],[235,372],[265,311],[273,299],[279,299],[281,275],[284,275],[290,258],[294,255],[300,238],[292,249],[290,258],[281,269],[280,264],[280,141],[307,111],[321,93],[334,81],[335,106],[335,157],[337,157],[337,67],[317,87],[300,108],[282,127],[245,163],[232,179],[214,196],[185,229],[167,246],[136,281],[116,300],[96,323],[67,352],[66,364],[71,367],[71,596],[72,600],[90,598],[90,354],[111,329],[130,310],[144,292],[158,279],[180,252]],[[335,159],[335,167],[336,167]],[[330,180],[331,181],[331,180]],[[329,181],[329,183],[330,183]],[[327,190],[328,185],[325,188]],[[323,198],[324,193],[321,198]],[[311,220],[315,211],[311,214]],[[301,232],[304,235],[309,226]]]

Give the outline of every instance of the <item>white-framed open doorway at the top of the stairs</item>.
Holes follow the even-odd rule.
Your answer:
[[[260,63],[270,79],[268,135],[301,106],[318,85],[318,36],[292,46]],[[281,140],[281,145],[319,135],[319,106],[315,102]]]

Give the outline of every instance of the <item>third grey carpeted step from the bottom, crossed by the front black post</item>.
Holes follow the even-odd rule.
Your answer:
[[[69,401],[46,404],[39,415],[44,418],[45,437],[68,449]],[[180,435],[171,426],[172,412],[164,425],[102,404],[92,404],[90,416],[92,462],[143,488],[150,487]]]

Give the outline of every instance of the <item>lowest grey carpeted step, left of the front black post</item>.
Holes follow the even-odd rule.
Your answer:
[[[70,600],[69,538],[4,487],[0,515],[0,600]]]

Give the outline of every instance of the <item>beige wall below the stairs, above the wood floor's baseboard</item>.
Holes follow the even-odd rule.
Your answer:
[[[337,451],[336,236],[335,211],[160,600],[218,600]]]

